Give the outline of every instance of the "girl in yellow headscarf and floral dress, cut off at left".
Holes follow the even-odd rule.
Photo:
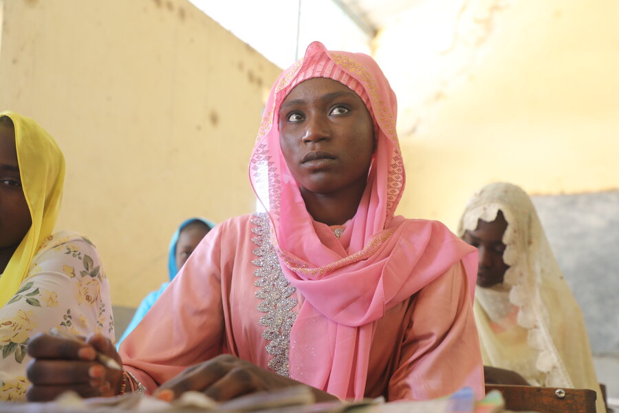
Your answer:
[[[0,400],[25,401],[30,337],[50,328],[114,337],[109,284],[95,246],[53,233],[65,159],[34,120],[0,112]]]

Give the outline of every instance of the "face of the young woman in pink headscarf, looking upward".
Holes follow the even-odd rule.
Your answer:
[[[374,151],[373,124],[351,89],[329,78],[299,83],[279,108],[279,142],[301,191],[331,194],[365,188]]]

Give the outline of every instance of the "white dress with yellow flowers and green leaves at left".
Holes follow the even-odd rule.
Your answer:
[[[30,337],[56,327],[114,339],[109,284],[96,247],[69,231],[50,235],[28,277],[0,308],[0,401],[25,401]]]

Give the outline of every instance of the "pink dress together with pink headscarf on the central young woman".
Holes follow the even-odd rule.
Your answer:
[[[307,211],[280,147],[281,103],[316,77],[362,100],[376,141],[356,213],[337,232]],[[471,304],[477,251],[439,222],[394,215],[405,182],[396,114],[395,93],[365,54],[314,42],[281,74],[249,166],[268,215],[233,218],[206,235],[120,346],[136,381],[152,392],[230,353],[341,399],[484,393]]]

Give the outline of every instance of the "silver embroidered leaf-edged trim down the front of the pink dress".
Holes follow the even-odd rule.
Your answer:
[[[254,249],[257,259],[252,260],[252,264],[258,267],[254,275],[258,279],[254,285],[260,288],[256,292],[256,297],[263,301],[258,305],[258,310],[266,313],[259,319],[259,324],[266,327],[262,333],[265,340],[270,341],[266,350],[273,356],[267,363],[268,368],[288,377],[290,374],[290,363],[288,361],[288,349],[290,348],[290,330],[296,314],[292,308],[296,306],[298,300],[290,298],[296,288],[284,277],[277,259],[277,253],[270,241],[270,228],[268,215],[265,213],[254,213],[252,233],[257,237],[252,237],[252,242],[258,246]]]

